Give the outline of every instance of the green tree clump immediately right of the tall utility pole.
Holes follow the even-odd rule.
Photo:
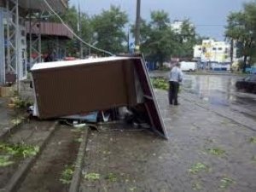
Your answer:
[[[134,26],[131,32],[134,34]],[[169,15],[163,10],[151,12],[151,20],[141,20],[141,51],[147,61],[158,62],[160,67],[171,57],[193,57],[196,44],[195,27],[189,20],[183,20],[179,32],[172,30]]]

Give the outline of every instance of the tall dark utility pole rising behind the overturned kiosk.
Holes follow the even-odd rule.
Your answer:
[[[141,24],[141,0],[137,0],[136,25],[135,25],[135,52],[140,50],[140,24]]]

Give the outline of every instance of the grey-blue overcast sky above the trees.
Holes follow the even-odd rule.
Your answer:
[[[242,9],[242,3],[249,0],[141,0],[141,16],[150,19],[153,10],[165,10],[171,20],[183,20],[189,18],[196,27],[196,32],[201,35],[224,39],[224,25],[230,11]],[[78,6],[82,12],[88,15],[96,15],[102,9],[109,9],[110,5],[120,6],[129,15],[130,23],[133,23],[136,15],[137,0],[70,0]]]

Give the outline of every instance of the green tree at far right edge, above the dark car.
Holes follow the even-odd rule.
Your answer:
[[[225,36],[238,45],[238,56],[243,56],[243,72],[246,70],[247,59],[253,61],[256,51],[256,2],[245,3],[240,12],[230,13],[227,19]]]

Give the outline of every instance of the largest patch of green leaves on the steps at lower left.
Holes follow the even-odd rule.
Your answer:
[[[0,143],[0,150],[6,154],[23,156],[24,158],[26,158],[28,156],[34,156],[38,154],[39,147],[26,145],[24,143],[19,143],[19,144]]]

